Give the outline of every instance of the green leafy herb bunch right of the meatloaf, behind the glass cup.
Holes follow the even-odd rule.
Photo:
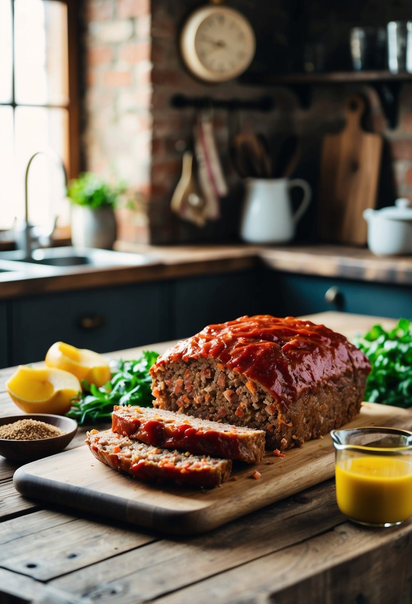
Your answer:
[[[372,365],[365,400],[398,407],[412,406],[412,323],[402,318],[394,329],[375,325],[354,344]]]

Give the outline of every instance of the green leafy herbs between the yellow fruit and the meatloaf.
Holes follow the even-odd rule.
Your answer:
[[[82,425],[86,421],[109,419],[114,405],[150,406],[153,396],[149,369],[157,358],[157,352],[144,350],[135,361],[119,361],[110,381],[100,388],[83,380],[83,393],[72,399],[67,415]]]

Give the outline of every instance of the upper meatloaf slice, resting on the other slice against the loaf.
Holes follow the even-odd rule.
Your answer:
[[[265,432],[182,416],[174,411],[115,406],[112,431],[148,445],[259,463]]]

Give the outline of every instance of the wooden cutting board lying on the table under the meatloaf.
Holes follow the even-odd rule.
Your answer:
[[[363,403],[347,427],[384,425],[412,428],[410,410]],[[96,460],[87,446],[33,461],[14,474],[22,495],[71,506],[122,522],[190,535],[216,528],[275,501],[321,483],[334,474],[330,435],[312,440],[285,457],[266,454],[260,464],[239,464],[234,480],[215,489],[156,487],[121,475]],[[261,478],[253,473],[258,470]]]

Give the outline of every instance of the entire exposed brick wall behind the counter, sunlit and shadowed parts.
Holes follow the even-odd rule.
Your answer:
[[[326,45],[335,44],[335,47],[327,47],[328,56],[346,68],[347,45],[344,42],[347,31],[341,27],[340,36],[343,37],[332,36],[333,24],[344,22],[348,30],[356,15],[359,22],[367,24],[370,15],[375,23],[379,23],[394,14],[388,3],[385,3],[385,14],[378,16],[376,7],[379,8],[379,2],[369,0],[364,2],[363,10],[358,10],[359,2],[348,0],[343,19],[339,14],[333,16],[327,10],[325,13],[325,2],[314,0],[311,3],[311,11],[305,14],[305,35],[308,39],[314,36],[323,39]],[[299,60],[300,55],[294,53],[290,45],[285,51],[285,43],[294,39],[296,31],[301,34],[303,25],[295,21],[292,23],[295,27],[291,27],[291,15],[298,13],[289,10],[289,5],[301,3],[232,0],[228,4],[242,10],[253,22],[259,44],[254,69],[294,68],[294,61]],[[231,167],[226,111],[214,112],[216,139],[231,185],[230,195],[222,200],[222,219],[199,229],[179,220],[170,211],[170,198],[181,173],[182,146],[190,145],[195,117],[192,109],[172,108],[171,98],[182,92],[190,96],[216,98],[252,99],[268,94],[274,98],[275,108],[269,114],[239,112],[240,126],[264,132],[274,148],[288,133],[300,135],[302,154],[295,176],[311,182],[315,193],[311,210],[298,230],[301,239],[315,238],[322,137],[324,133],[335,132],[343,126],[343,101],[353,92],[361,92],[368,101],[367,126],[385,138],[379,204],[391,205],[400,195],[412,199],[412,84],[402,85],[399,124],[391,130],[376,92],[362,84],[314,86],[311,107],[302,109],[297,97],[287,88],[249,86],[240,82],[216,86],[196,82],[181,64],[176,40],[182,21],[197,5],[197,0],[85,2],[87,93],[84,143],[87,167],[106,175],[114,170],[126,179],[132,191],[143,194],[141,211],[120,216],[122,239],[146,238],[154,243],[167,243],[222,241],[237,236],[242,182]],[[398,0],[396,18],[402,18],[405,6],[402,0]],[[307,27],[307,19],[318,19],[322,14],[326,14],[327,19],[321,25],[318,22],[317,27]],[[312,23],[310,19],[309,22]],[[146,210],[149,222],[146,222]]]

